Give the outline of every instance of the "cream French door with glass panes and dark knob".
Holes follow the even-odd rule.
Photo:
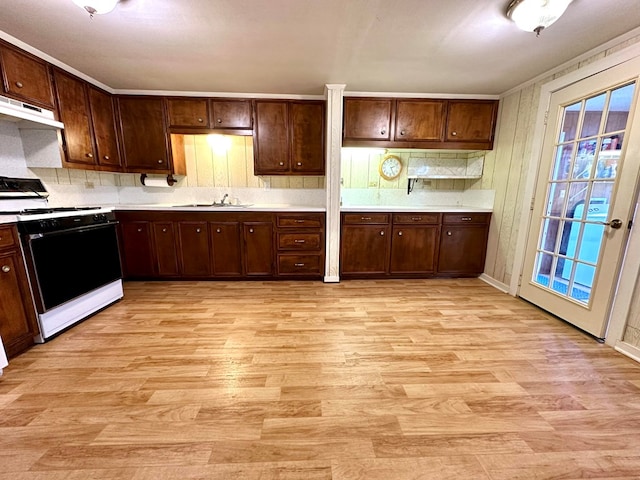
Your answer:
[[[552,94],[525,251],[519,295],[598,338],[637,195],[639,75],[637,58]]]

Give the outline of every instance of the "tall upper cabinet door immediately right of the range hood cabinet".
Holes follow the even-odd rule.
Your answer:
[[[72,164],[95,165],[89,97],[85,83],[58,69],[54,69],[53,78],[60,120],[64,123],[62,136],[66,160]]]

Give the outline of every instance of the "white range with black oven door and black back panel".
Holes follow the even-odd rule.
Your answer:
[[[14,191],[44,197],[44,186],[34,188],[34,179],[0,177],[0,190],[3,182],[5,189],[8,184]],[[40,329],[36,342],[49,340],[123,297],[117,221],[110,209],[40,205],[13,213]]]

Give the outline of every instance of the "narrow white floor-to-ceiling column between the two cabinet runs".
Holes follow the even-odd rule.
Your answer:
[[[340,281],[340,152],[342,149],[342,98],[346,85],[325,85],[327,139],[325,192],[327,207],[325,282]]]

